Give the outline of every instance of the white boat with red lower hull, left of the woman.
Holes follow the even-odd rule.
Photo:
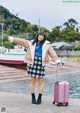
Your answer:
[[[7,49],[0,53],[0,64],[26,69],[25,55],[23,49]]]

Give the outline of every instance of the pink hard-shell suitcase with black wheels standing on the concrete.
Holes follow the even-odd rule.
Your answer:
[[[53,104],[57,103],[57,106],[68,106],[69,96],[69,83],[66,81],[55,82],[54,85],[54,101]]]

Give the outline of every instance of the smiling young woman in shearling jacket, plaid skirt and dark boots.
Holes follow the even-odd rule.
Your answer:
[[[60,60],[50,46],[50,42],[46,40],[45,33],[38,33],[33,41],[25,39],[15,38],[9,36],[10,42],[14,42],[18,45],[22,45],[27,49],[25,61],[27,62],[27,73],[31,76],[30,91],[32,95],[32,104],[41,104],[42,93],[44,90],[44,76],[45,65],[49,63],[49,56],[56,63],[60,63]],[[35,98],[35,83],[36,78],[39,83],[39,95]]]

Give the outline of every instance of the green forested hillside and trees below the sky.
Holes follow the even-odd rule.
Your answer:
[[[13,44],[9,43],[7,39],[8,35],[31,40],[39,31],[38,25],[20,19],[18,14],[14,15],[10,13],[10,11],[3,6],[0,6],[0,23],[4,23],[4,46],[8,48],[13,48]],[[54,25],[54,21],[52,24]],[[78,45],[80,43],[80,25],[79,22],[73,18],[68,19],[61,26],[53,27],[51,31],[45,27],[41,27],[40,31],[46,33],[47,39],[51,43],[55,41],[66,41],[68,43],[79,41]],[[1,33],[2,25],[0,24],[0,46],[2,40]]]

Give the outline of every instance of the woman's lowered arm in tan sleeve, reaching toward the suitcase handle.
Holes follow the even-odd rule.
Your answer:
[[[51,46],[48,49],[48,54],[52,58],[52,60],[55,61],[57,64],[61,63],[59,57],[57,56],[56,52],[54,51],[54,49]]]

